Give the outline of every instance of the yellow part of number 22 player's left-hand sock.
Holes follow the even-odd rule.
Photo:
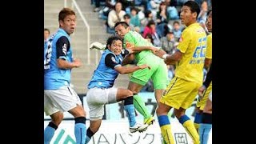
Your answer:
[[[174,137],[173,137],[173,134],[171,134],[170,124],[161,126],[160,128],[161,128],[162,137],[165,140],[166,144],[174,144]]]

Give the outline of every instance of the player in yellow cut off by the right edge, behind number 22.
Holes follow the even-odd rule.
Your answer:
[[[207,35],[207,47],[206,47],[206,59],[205,59],[205,67],[206,69],[209,69],[210,64],[211,64],[211,59],[212,59],[212,11],[209,10],[208,12],[208,18],[206,19],[206,27],[207,30],[210,34]],[[206,105],[206,101],[208,99],[208,96],[210,94],[210,91],[212,90],[212,83],[210,82],[210,86],[206,88],[206,90],[202,93],[202,97],[198,97],[198,102],[197,102],[197,108],[196,108],[196,113],[194,117],[194,126],[199,130],[199,124],[201,123],[202,119],[202,110],[204,109]],[[199,132],[198,132],[199,134]]]

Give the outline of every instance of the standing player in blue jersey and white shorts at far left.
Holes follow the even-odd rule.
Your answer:
[[[76,27],[74,10],[63,8],[58,14],[58,23],[58,31],[45,44],[44,111],[51,121],[44,130],[44,143],[50,143],[65,111],[74,116],[76,142],[85,143],[86,111],[78,94],[70,87],[71,69],[82,65],[78,58],[73,58],[70,46],[70,34]]]

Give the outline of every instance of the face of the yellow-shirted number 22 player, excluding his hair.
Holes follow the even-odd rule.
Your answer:
[[[196,20],[196,13],[191,13],[189,6],[182,6],[181,10],[181,21],[182,24],[190,26]]]

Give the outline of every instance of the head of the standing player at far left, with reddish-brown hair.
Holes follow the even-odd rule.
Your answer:
[[[59,27],[66,31],[67,34],[73,34],[76,26],[74,10],[63,8],[58,14]]]

